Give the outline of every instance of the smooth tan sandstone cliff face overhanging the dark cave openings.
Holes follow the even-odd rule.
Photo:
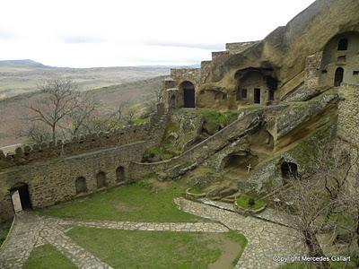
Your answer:
[[[308,56],[324,50],[330,39],[340,33],[359,31],[358,10],[356,0],[317,0],[286,26],[277,28],[241,53],[229,56],[222,65],[215,65],[199,89],[225,89],[229,107],[235,108],[238,87],[235,74],[255,67],[274,71],[278,80],[277,96],[297,90],[305,79]]]

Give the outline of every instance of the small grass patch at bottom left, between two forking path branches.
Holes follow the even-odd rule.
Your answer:
[[[69,269],[76,266],[61,254],[55,247],[44,245],[32,250],[29,259],[23,266],[24,269],[50,269],[61,268]]]

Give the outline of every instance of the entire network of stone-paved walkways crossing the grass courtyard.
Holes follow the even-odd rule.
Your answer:
[[[244,217],[221,204],[201,204],[183,198],[175,199],[180,210],[219,222],[133,222],[133,221],[77,221],[41,217],[24,212],[16,217],[9,239],[0,249],[0,268],[22,268],[34,247],[51,244],[67,256],[78,268],[111,268],[78,246],[66,236],[74,226],[113,230],[171,230],[177,232],[228,232],[239,230],[249,240],[235,268],[276,268],[273,256],[292,256],[302,253],[294,230],[258,218]],[[215,206],[217,207],[215,207]],[[223,223],[223,224],[221,224]]]

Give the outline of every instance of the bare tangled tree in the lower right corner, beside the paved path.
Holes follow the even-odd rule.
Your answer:
[[[305,177],[290,174],[287,187],[279,195],[282,203],[278,208],[286,211],[290,225],[302,235],[310,256],[323,256],[317,236],[329,232],[335,235],[337,229],[355,234],[353,239],[357,239],[359,247],[358,179],[356,187],[351,186],[352,179],[359,178],[358,172],[353,173],[359,160],[357,147],[344,147],[336,140],[320,144],[316,152],[310,161],[310,174]],[[356,225],[349,227],[346,223],[344,227],[339,220],[348,213]],[[317,267],[329,268],[326,263]]]

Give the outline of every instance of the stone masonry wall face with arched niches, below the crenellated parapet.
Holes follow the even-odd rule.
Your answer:
[[[117,181],[116,169],[125,169],[125,182],[131,181],[130,161],[141,161],[149,142],[129,143],[98,152],[83,153],[51,161],[36,162],[0,171],[0,221],[13,215],[9,189],[17,183],[29,187],[31,204],[44,207],[76,197],[75,179],[86,178],[87,193],[98,191],[96,175],[106,174],[108,187],[123,182]]]

